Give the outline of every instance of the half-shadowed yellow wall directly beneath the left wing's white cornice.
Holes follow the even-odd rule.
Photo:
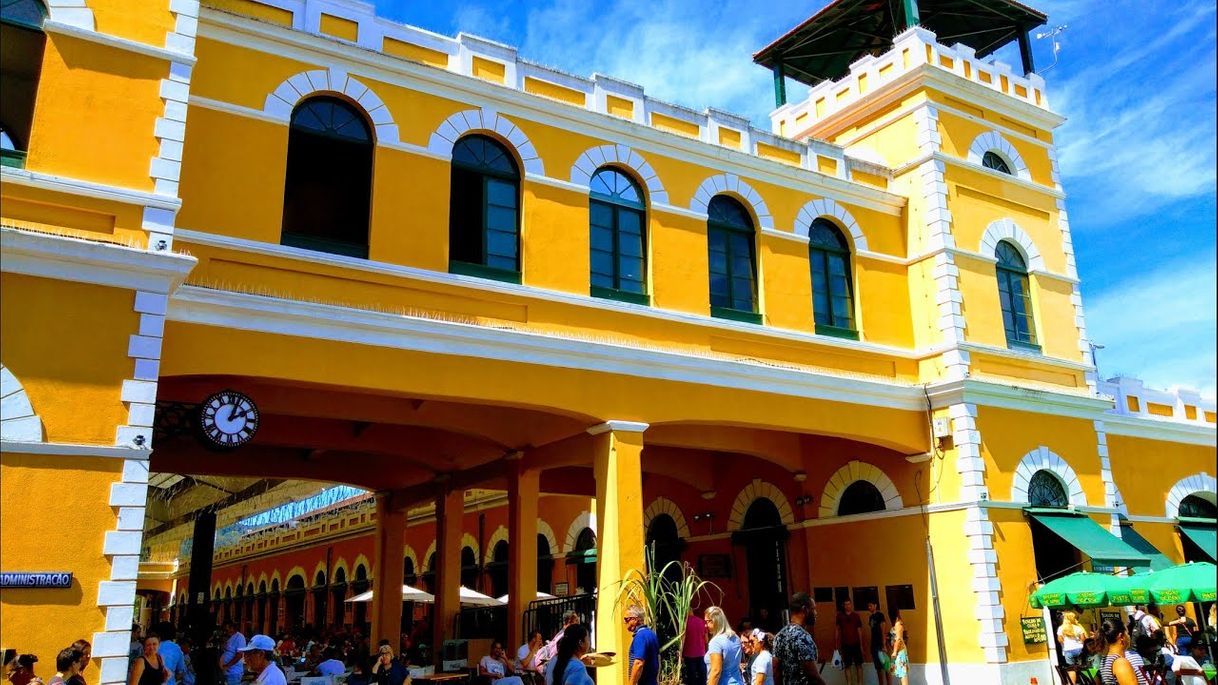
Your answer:
[[[0,302],[4,364],[41,417],[46,441],[113,445],[116,427],[127,423],[119,394],[133,368],[128,336],[139,329],[134,294],[4,273]]]

